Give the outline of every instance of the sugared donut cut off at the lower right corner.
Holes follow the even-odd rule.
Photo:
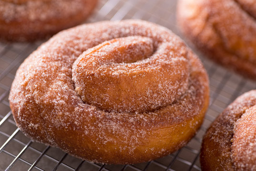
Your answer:
[[[209,127],[202,171],[256,171],[256,90],[239,96]]]

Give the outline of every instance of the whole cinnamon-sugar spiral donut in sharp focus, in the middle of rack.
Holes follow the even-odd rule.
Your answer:
[[[195,135],[208,86],[198,57],[169,29],[102,21],[42,44],[19,67],[9,101],[35,141],[87,161],[139,163]]]

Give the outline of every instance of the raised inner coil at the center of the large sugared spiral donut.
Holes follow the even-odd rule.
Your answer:
[[[77,94],[108,112],[142,113],[172,103],[187,88],[187,60],[176,72],[175,62],[163,58],[169,47],[154,52],[155,44],[152,38],[129,36],[86,50],[72,66]]]

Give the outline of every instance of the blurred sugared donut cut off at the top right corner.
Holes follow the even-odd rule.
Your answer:
[[[256,79],[254,0],[179,0],[177,23],[207,57]]]

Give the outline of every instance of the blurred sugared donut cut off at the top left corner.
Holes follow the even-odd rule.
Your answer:
[[[0,0],[0,39],[34,41],[80,24],[97,0]]]

